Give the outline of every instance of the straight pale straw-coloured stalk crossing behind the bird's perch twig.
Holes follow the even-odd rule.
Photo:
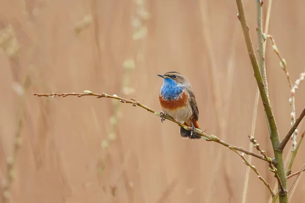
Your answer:
[[[259,92],[258,92],[258,88],[257,88],[256,89],[256,95],[255,95],[255,102],[254,102],[252,125],[251,125],[251,137],[254,137],[254,133],[255,133],[258,101],[259,101]],[[252,142],[250,142],[249,151],[250,152],[253,151],[253,143]],[[251,165],[251,161],[252,161],[252,156],[249,156],[248,162],[249,162],[250,165]],[[246,177],[245,177],[245,184],[243,186],[242,201],[241,201],[241,203],[245,203],[246,202],[249,177],[250,177],[250,167],[247,167]]]

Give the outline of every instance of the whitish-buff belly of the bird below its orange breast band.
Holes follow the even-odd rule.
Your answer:
[[[186,122],[192,116],[191,105],[187,105],[186,107],[179,107],[175,110],[165,109],[165,108],[162,108],[162,110],[163,110],[164,113],[173,117],[176,121],[178,121],[180,123]]]

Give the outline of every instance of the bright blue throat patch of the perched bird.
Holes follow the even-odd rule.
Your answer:
[[[176,81],[170,78],[164,78],[163,86],[161,87],[161,95],[165,100],[175,100],[182,93],[183,88],[178,86]]]

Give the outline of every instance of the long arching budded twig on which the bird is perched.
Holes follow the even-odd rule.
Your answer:
[[[119,97],[119,96],[116,96],[116,95],[109,95],[109,94],[106,94],[106,93],[101,93],[101,94],[97,94],[97,93],[94,93],[94,92],[91,92],[91,91],[88,91],[88,90],[85,90],[84,91],[85,93],[75,93],[75,92],[73,92],[73,93],[50,93],[50,94],[38,94],[38,93],[33,93],[33,95],[36,95],[36,96],[46,96],[46,97],[48,97],[48,96],[52,96],[52,97],[55,97],[55,96],[62,96],[62,97],[66,97],[66,96],[77,96],[77,97],[81,97],[81,96],[96,96],[97,98],[102,98],[102,97],[106,97],[106,98],[113,98],[113,99],[118,99],[118,100],[120,100],[120,102],[121,103],[127,103],[127,104],[132,104],[132,106],[134,106],[134,107],[137,107],[137,106],[139,106],[139,107],[141,107],[141,108],[143,108],[143,109],[146,109],[147,111],[149,111],[149,112],[151,112],[151,113],[154,113],[155,115],[157,115],[158,117],[161,117],[161,115],[160,115],[160,113],[158,113],[157,111],[155,111],[155,110],[153,110],[153,109],[150,109],[149,107],[146,107],[145,105],[142,105],[137,99],[135,99],[135,98],[131,98],[131,100],[129,100],[129,99],[126,99],[126,98],[122,98],[122,97]],[[186,125],[184,125],[184,124],[182,124],[182,123],[179,123],[179,122],[177,122],[177,121],[175,121],[173,118],[171,118],[171,117],[168,117],[168,116],[166,116],[166,117],[164,117],[165,119],[167,119],[167,120],[170,120],[170,121],[172,121],[172,122],[174,122],[174,123],[176,123],[176,124],[178,124],[180,127],[184,127],[185,129],[187,129],[187,130],[190,130],[191,129],[191,127],[189,127],[189,126],[186,126]],[[206,140],[206,141],[213,141],[213,142],[217,142],[217,143],[219,143],[219,144],[221,144],[221,145],[224,145],[224,146],[226,146],[226,147],[229,147],[229,146],[231,146],[232,147],[232,149],[235,149],[235,150],[237,150],[237,151],[240,151],[240,152],[243,152],[243,153],[245,153],[245,154],[248,154],[248,155],[251,155],[251,156],[254,156],[254,157],[257,157],[257,158],[259,158],[259,159],[262,159],[262,160],[265,160],[265,161],[267,161],[265,158],[264,158],[264,156],[262,156],[262,155],[260,155],[260,154],[257,154],[257,153],[254,153],[254,152],[250,152],[250,151],[248,151],[248,150],[246,150],[246,149],[243,149],[243,148],[241,148],[241,147],[235,147],[235,146],[233,146],[233,145],[231,145],[231,144],[228,144],[228,143],[226,143],[226,142],[224,142],[224,141],[222,141],[222,140],[220,140],[218,137],[216,137],[216,136],[214,136],[214,135],[208,135],[208,134],[205,134],[204,132],[202,132],[200,129],[198,129],[198,128],[196,128],[197,129],[197,134],[200,134],[200,136],[201,136],[201,138],[202,139],[204,139],[204,140]]]

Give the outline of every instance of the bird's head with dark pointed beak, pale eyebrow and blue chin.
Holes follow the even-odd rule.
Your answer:
[[[166,74],[158,74],[161,78],[163,78],[163,86],[167,87],[189,87],[190,82],[189,80],[184,77],[182,74],[175,72],[175,71],[170,71],[167,72]]]

